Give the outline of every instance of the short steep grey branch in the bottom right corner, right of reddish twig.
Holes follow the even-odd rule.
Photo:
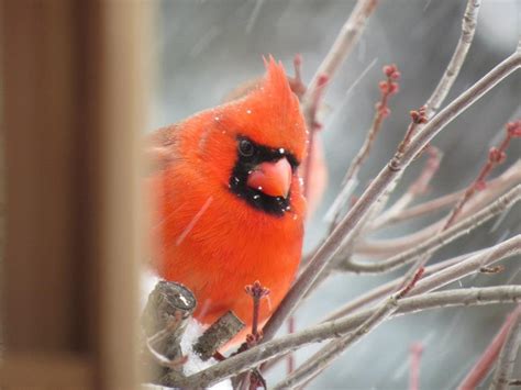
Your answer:
[[[512,325],[507,334],[503,347],[499,353],[498,363],[496,366],[496,372],[494,374],[492,383],[490,389],[494,390],[506,390],[509,386],[509,378],[512,376],[513,364],[518,349],[521,344],[521,305],[513,312]]]

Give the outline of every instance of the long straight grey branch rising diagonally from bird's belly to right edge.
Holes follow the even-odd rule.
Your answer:
[[[378,201],[387,188],[396,182],[413,158],[437,135],[451,121],[464,112],[494,86],[521,67],[521,52],[514,53],[497,65],[474,86],[463,92],[436,116],[434,116],[412,140],[410,147],[402,155],[396,154],[389,164],[381,169],[361,199],[350,210],[337,227],[324,241],[299,278],[286,294],[274,315],[264,327],[264,339],[269,341],[292,313],[300,299],[306,294],[314,280],[321,275],[325,265],[334,257],[341,244],[348,239],[353,231],[364,222],[373,204]]]

